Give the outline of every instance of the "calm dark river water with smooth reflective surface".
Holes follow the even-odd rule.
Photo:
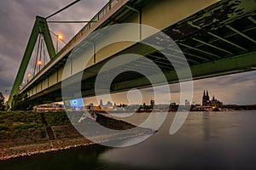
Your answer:
[[[127,121],[139,123],[147,116],[136,114]],[[0,161],[0,169],[256,169],[256,111],[190,112],[170,135],[173,116],[140,144],[61,150]]]

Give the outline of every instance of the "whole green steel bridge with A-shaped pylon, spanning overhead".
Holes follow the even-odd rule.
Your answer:
[[[253,0],[197,0],[193,3],[190,0],[112,0],[57,54],[49,36],[47,20],[37,17],[9,96],[9,108],[15,94],[28,94],[30,105],[61,101],[62,72],[69,54],[93,31],[117,23],[153,26],[172,37],[189,62],[193,79],[256,70],[256,2]],[[124,30],[121,34],[127,32],[129,30]],[[44,36],[50,61],[19,92],[38,34]],[[143,29],[138,30],[137,34],[141,39],[150,38],[150,34]],[[173,65],[158,50],[139,42],[124,42],[102,48],[94,54],[98,43],[108,41],[101,39],[101,35],[94,38],[91,42],[84,42],[84,48],[88,48],[88,57],[91,57],[90,63],[84,68],[79,58],[74,59],[69,74],[64,75],[72,78],[79,71],[84,71],[81,82],[83,97],[95,95],[98,71],[109,59],[119,54],[141,54],[160,67],[168,83],[179,81]],[[155,44],[162,39],[153,38]],[[79,46],[83,47],[83,44]],[[175,55],[173,62],[179,64]],[[128,71],[114,79],[111,90],[120,92],[149,85],[143,75]]]

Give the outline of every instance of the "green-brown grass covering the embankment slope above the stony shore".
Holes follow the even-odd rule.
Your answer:
[[[81,113],[74,112],[77,119]],[[78,117],[77,117],[78,116]],[[83,136],[73,127],[65,111],[45,112],[47,126],[52,128],[55,139],[77,139]],[[134,127],[130,123],[114,120],[108,116],[97,116],[102,126],[124,130]],[[0,111],[0,149],[12,146],[49,142],[46,125],[35,111]]]

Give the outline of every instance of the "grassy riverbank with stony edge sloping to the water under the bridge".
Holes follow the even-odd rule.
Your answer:
[[[16,121],[14,121],[14,116],[16,117]],[[21,116],[23,119],[17,118]],[[27,121],[28,117],[29,121]],[[46,118],[44,118],[44,121],[48,122],[47,124],[52,129],[54,140],[49,139],[49,134],[47,134],[47,130],[45,130],[47,127],[38,121],[38,117],[38,113],[35,112],[17,112],[16,115],[9,113],[4,115],[4,113],[0,113],[1,121],[3,124],[6,124],[5,127],[0,130],[0,160],[44,154],[57,150],[67,150],[95,144],[89,139],[85,139],[69,121],[67,122],[65,112],[48,113],[45,115]],[[62,120],[62,122],[60,122],[60,120]],[[12,122],[12,124],[10,122]],[[33,123],[34,126],[24,126],[25,122],[26,125]],[[104,127],[116,130],[125,130],[135,127],[131,123],[115,120],[110,116],[104,116],[102,114],[97,116],[96,122]],[[15,128],[17,125],[22,126],[19,126],[20,128],[17,130]],[[10,133],[13,135],[9,135]],[[127,138],[129,138],[129,136],[127,136]],[[104,143],[108,141],[101,140],[101,142]]]

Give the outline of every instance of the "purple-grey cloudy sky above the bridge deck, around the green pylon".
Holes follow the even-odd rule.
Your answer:
[[[47,17],[73,0],[8,0],[0,5],[0,91],[9,94],[32,31],[36,15]],[[108,0],[82,0],[49,20],[90,20]],[[84,24],[49,24],[50,31],[61,32],[65,42]],[[55,41],[55,38],[53,38]],[[55,43],[54,43],[55,44]],[[64,46],[60,42],[60,47]]]

